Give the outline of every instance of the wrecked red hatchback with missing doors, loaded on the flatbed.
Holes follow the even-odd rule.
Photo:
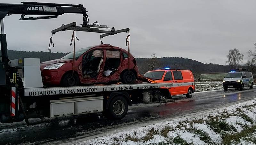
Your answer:
[[[79,86],[79,84],[109,83],[121,81],[134,83],[139,69],[134,57],[122,48],[102,44],[81,48],[75,52],[74,74],[72,74],[73,52],[61,59],[41,63],[43,84],[46,86]],[[130,71],[128,71],[130,68]]]

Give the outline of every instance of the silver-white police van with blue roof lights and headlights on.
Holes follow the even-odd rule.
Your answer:
[[[228,90],[228,88],[239,88],[240,91],[244,87],[253,88],[253,76],[252,72],[248,72],[245,69],[231,70],[223,79],[223,88]]]

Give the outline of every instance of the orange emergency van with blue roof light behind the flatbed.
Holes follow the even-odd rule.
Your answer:
[[[184,94],[187,98],[191,98],[195,92],[195,79],[189,70],[164,68],[148,71],[144,76],[157,83],[173,83],[169,88],[172,96]]]

